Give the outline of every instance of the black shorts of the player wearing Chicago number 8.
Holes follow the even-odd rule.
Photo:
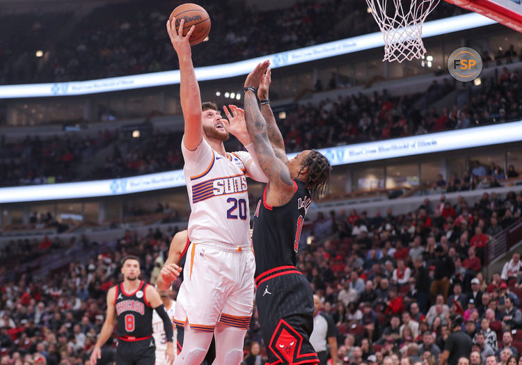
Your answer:
[[[141,341],[120,339],[116,348],[116,365],[154,365],[156,362],[154,338]]]

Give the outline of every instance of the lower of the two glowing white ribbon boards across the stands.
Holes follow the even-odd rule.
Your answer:
[[[522,120],[486,127],[323,148],[319,149],[319,152],[329,159],[331,165],[335,166],[471,147],[500,145],[520,140],[522,140]],[[289,154],[288,158],[292,159],[294,156],[295,154]],[[106,197],[176,188],[184,185],[183,170],[174,170],[120,179],[15,186],[13,188],[0,188],[0,204]]]

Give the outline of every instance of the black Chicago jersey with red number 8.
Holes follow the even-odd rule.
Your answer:
[[[152,307],[145,296],[148,284],[140,282],[134,293],[125,293],[123,283],[116,286],[116,333],[118,336],[152,336]]]

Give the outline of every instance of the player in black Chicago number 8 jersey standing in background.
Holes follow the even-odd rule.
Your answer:
[[[152,338],[152,309],[163,320],[167,340],[165,355],[168,364],[171,364],[174,360],[174,333],[159,293],[138,278],[141,271],[137,257],[125,257],[121,273],[123,282],[107,293],[105,322],[90,355],[90,364],[95,365],[100,359],[102,345],[117,325],[116,365],[154,365],[156,346]]]

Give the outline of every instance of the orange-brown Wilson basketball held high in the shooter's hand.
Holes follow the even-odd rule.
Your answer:
[[[176,18],[176,30],[180,26],[181,19],[185,20],[183,35],[187,35],[191,26],[196,26],[189,40],[192,46],[203,42],[207,38],[210,32],[210,17],[207,10],[201,6],[195,3],[184,3],[175,8],[168,19],[171,20],[173,17]]]

